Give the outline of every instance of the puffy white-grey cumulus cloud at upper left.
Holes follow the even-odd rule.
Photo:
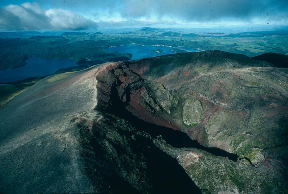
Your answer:
[[[4,30],[84,30],[96,29],[90,19],[64,9],[41,9],[38,3],[22,3],[0,8],[0,29]]]

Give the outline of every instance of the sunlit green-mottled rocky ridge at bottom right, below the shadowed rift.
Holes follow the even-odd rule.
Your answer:
[[[154,143],[177,159],[202,193],[270,193],[271,187],[283,181],[280,177],[271,178],[271,172],[279,172],[277,167],[263,171],[246,159],[234,162],[200,149],[174,148],[162,137],[154,139]],[[278,189],[273,192],[283,192],[283,187]]]

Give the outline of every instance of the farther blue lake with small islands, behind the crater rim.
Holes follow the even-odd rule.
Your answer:
[[[162,53],[151,52],[156,49],[161,49],[163,50],[163,52]],[[175,47],[169,47],[169,46],[153,46],[153,45],[141,46],[138,44],[128,44],[124,46],[110,47],[108,49],[104,49],[104,51],[107,51],[107,52],[118,51],[119,53],[130,53],[133,55],[131,60],[136,60],[136,59],[141,59],[145,57],[157,57],[160,55],[175,54],[175,52],[169,51],[170,49],[185,49],[186,51],[189,51],[189,52],[200,52],[200,50],[190,49],[187,47],[175,48]]]

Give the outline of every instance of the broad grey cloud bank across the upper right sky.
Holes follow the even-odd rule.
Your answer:
[[[213,23],[223,20],[251,23],[255,18],[263,21],[286,23],[288,21],[287,0],[123,0],[123,2],[125,9],[119,11],[127,18],[156,16],[161,20],[163,17],[170,17],[186,23]],[[269,17],[267,13],[270,13]]]

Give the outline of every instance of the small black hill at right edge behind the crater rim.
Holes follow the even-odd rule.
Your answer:
[[[283,55],[279,53],[264,53],[262,55],[252,57],[252,59],[272,63],[274,67],[288,68],[288,56],[287,55]]]

